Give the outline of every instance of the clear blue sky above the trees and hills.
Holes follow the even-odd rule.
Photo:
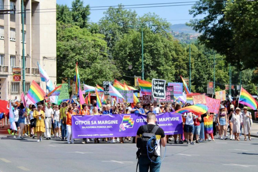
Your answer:
[[[91,7],[98,7],[98,6],[112,6],[112,5],[137,5],[137,4],[156,4],[156,3],[171,3],[171,2],[187,2],[186,0],[84,0],[84,5],[89,4]],[[190,1],[188,1],[190,2]],[[57,4],[66,4],[71,7],[72,0],[56,0]],[[194,3],[185,3],[185,4],[194,4]],[[165,5],[165,4],[164,4]],[[173,4],[167,4],[173,5]],[[161,5],[146,5],[146,6],[161,6]],[[186,23],[189,19],[192,19],[192,16],[189,15],[189,10],[191,5],[185,6],[171,6],[171,7],[153,7],[153,8],[135,8],[135,10],[139,16],[146,14],[148,12],[155,13],[159,15],[161,18],[166,19],[171,24],[179,24],[179,23]],[[91,11],[90,21],[91,22],[98,22],[101,17],[104,17],[103,12],[106,10],[96,10]]]

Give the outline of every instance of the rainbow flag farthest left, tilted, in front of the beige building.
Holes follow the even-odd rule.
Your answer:
[[[30,86],[29,92],[27,94],[28,99],[33,102],[33,104],[44,100],[44,96],[46,94],[44,91],[40,88],[40,86],[33,80],[32,84]]]

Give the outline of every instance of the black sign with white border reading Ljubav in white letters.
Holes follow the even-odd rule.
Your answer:
[[[166,80],[152,79],[152,96],[154,98],[166,98]]]

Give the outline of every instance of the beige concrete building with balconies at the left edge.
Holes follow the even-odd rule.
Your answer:
[[[41,82],[37,62],[56,84],[56,1],[24,0],[26,93],[32,80],[46,92]],[[0,99],[20,99],[22,92],[22,18],[21,0],[0,0],[0,8],[10,14],[0,14]],[[52,9],[52,10],[49,10]],[[16,68],[16,69],[14,69]],[[20,68],[21,81],[13,72]],[[18,79],[18,77],[16,77]]]

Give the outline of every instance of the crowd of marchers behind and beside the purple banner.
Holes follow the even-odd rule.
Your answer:
[[[19,100],[16,100],[16,102]],[[145,114],[152,112],[154,114],[175,112],[182,107],[191,106],[190,103],[176,104],[173,103],[161,103],[158,105],[157,101],[153,103],[141,105],[140,102],[133,108],[131,105],[124,103],[113,103],[107,101],[101,108],[96,107],[96,100],[92,100],[92,104],[82,104],[82,109],[79,110],[76,102],[67,103],[64,101],[60,105],[52,104],[51,102],[38,103],[37,107],[34,104],[30,104],[29,107],[24,107],[22,103],[12,102],[14,122],[17,127],[16,130],[8,129],[9,134],[13,134],[13,137],[17,139],[23,139],[24,136],[37,137],[37,142],[42,141],[42,137],[46,140],[51,138],[61,139],[67,141],[67,143],[74,143],[72,137],[72,116],[73,115],[112,115],[112,114]],[[258,119],[258,113],[255,112],[255,119]],[[1,123],[5,124],[6,114],[2,115]],[[202,141],[215,141],[214,136],[217,135],[218,139],[230,139],[240,140],[242,134],[244,134],[244,140],[251,140],[251,125],[252,115],[248,111],[247,107],[243,107],[242,111],[236,105],[236,101],[223,102],[220,106],[218,113],[205,113],[202,115],[195,115],[191,112],[182,114],[183,119],[183,134],[167,135],[166,141],[174,141],[175,144],[192,144],[200,143]],[[205,121],[212,120],[212,125],[206,125]],[[7,116],[8,125],[8,116]],[[212,127],[212,128],[211,128]],[[229,130],[229,136],[227,131]],[[35,136],[36,134],[36,136]],[[100,140],[107,141],[108,143],[124,143],[124,141],[132,140],[135,143],[135,137],[110,137],[110,138],[84,138],[82,143],[88,143],[94,141],[94,143],[100,143]]]

